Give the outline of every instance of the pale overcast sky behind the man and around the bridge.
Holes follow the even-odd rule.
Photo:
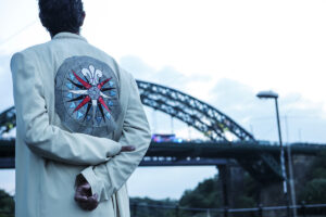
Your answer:
[[[276,140],[272,101],[279,93],[286,142],[326,143],[326,2],[300,0],[85,0],[82,35],[138,79],[181,90],[221,110],[261,140]],[[11,55],[50,38],[36,0],[0,2],[0,111],[13,104]],[[198,132],[147,108],[155,132]],[[160,125],[158,124],[160,120]],[[155,174],[155,176],[152,176]],[[214,167],[139,168],[131,195],[179,197]],[[0,188],[13,190],[13,173]],[[173,177],[166,178],[166,177]],[[146,189],[145,189],[146,187]]]

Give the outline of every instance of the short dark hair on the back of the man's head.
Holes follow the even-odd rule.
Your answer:
[[[79,34],[85,12],[82,0],[39,0],[39,18],[51,37],[61,31]]]

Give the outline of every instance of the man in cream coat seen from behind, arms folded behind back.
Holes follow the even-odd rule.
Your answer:
[[[13,55],[16,217],[126,217],[150,143],[137,85],[79,36],[82,0],[39,0],[51,40]]]

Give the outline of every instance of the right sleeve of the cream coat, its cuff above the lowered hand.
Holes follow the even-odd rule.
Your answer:
[[[145,156],[151,140],[149,124],[140,101],[137,84],[130,76],[130,92],[123,123],[122,145],[135,145],[133,152],[121,152],[106,163],[89,166],[80,174],[90,183],[99,201],[111,197],[130,177]]]

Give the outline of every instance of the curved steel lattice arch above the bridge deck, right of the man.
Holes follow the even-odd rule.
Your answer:
[[[145,105],[188,124],[212,141],[254,140],[251,133],[230,117],[196,98],[152,82],[137,80],[137,85]]]

